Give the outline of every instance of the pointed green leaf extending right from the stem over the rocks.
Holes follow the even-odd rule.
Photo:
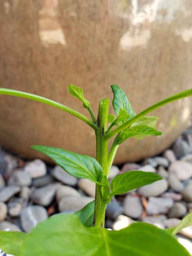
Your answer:
[[[160,180],[162,177],[156,173],[144,171],[128,171],[119,174],[111,181],[112,196],[124,194],[135,188],[151,184],[154,181]]]

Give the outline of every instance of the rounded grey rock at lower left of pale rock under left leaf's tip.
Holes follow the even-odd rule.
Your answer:
[[[30,186],[32,182],[29,173],[24,171],[14,171],[8,180],[8,185]]]

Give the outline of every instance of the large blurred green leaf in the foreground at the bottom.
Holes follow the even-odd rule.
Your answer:
[[[175,237],[147,223],[118,231],[87,228],[74,215],[58,214],[39,223],[25,239],[20,256],[189,256]]]

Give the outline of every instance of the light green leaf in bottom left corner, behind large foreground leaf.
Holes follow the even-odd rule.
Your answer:
[[[27,234],[23,232],[0,231],[0,248],[8,254],[17,256]]]

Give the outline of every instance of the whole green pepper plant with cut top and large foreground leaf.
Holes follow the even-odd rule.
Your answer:
[[[75,214],[57,214],[39,223],[29,234],[0,231],[0,248],[18,256],[189,256],[174,235],[192,224],[192,213],[171,229],[161,230],[151,224],[136,222],[119,231],[105,229],[105,209],[113,196],[162,179],[156,173],[128,171],[117,175],[109,183],[108,175],[120,144],[131,137],[159,136],[157,117],[147,116],[151,111],[170,102],[192,96],[192,89],[166,98],[136,114],[124,91],[111,85],[115,116],[109,114],[109,98],[98,103],[97,117],[80,87],[70,84],[69,92],[83,103],[91,119],[58,102],[34,94],[0,88],[0,94],[12,95],[43,102],[74,115],[94,129],[96,159],[65,149],[33,145],[49,156],[64,171],[77,178],[96,183],[95,200]],[[109,140],[113,142],[109,148]]]

